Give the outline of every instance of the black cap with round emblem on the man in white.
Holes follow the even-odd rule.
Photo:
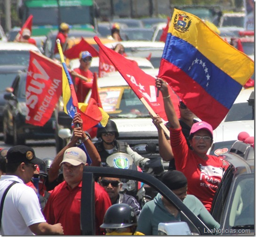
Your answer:
[[[7,163],[29,163],[37,165],[40,162],[39,158],[36,158],[35,151],[28,146],[17,145],[11,147],[7,152]]]

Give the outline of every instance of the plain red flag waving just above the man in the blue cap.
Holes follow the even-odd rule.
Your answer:
[[[93,57],[97,57],[99,55],[99,52],[95,47],[90,45],[84,38],[81,38],[81,41],[77,45],[64,51],[63,54],[69,59],[74,59],[79,58],[79,54],[82,51],[89,51]]]

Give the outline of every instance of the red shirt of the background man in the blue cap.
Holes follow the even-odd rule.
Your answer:
[[[74,71],[88,78],[88,81],[84,81],[82,79],[79,79],[78,77],[75,78],[75,85],[77,87],[77,100],[79,103],[84,103],[85,97],[87,96],[89,90],[92,88],[93,74],[90,70],[83,71],[80,68],[75,68]]]

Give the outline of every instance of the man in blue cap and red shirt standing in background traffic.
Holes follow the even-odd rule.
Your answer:
[[[84,103],[84,100],[89,90],[92,88],[93,74],[89,70],[92,62],[92,55],[88,51],[83,51],[80,53],[79,57],[80,57],[80,66],[79,68],[75,68],[71,72],[71,75],[73,77],[73,81],[75,85],[77,100],[79,103]],[[76,77],[76,73],[86,77],[87,81]]]

